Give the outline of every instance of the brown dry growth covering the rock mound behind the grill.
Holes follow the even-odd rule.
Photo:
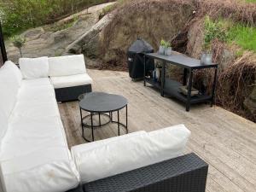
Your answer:
[[[125,61],[127,49],[137,38],[143,38],[157,51],[160,40],[171,41],[193,15],[193,10],[193,4],[179,1],[126,4],[117,10],[118,16],[101,33],[102,60]]]

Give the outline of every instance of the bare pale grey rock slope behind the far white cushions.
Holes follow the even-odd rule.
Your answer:
[[[21,35],[26,38],[26,44],[22,48],[23,57],[64,55],[67,46],[90,31],[98,22],[102,9],[111,4],[113,3],[96,5],[55,24],[23,32]],[[6,42],[6,47],[9,60],[18,62],[19,50],[9,41]]]

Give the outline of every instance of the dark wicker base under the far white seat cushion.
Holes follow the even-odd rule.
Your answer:
[[[91,92],[91,84],[55,89],[55,96],[57,102],[69,102],[88,92]]]

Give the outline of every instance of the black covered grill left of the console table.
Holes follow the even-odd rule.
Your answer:
[[[141,38],[138,38],[127,52],[129,75],[131,79],[143,79],[144,58],[143,53],[153,53],[153,47]],[[154,59],[146,58],[146,73],[154,70]]]

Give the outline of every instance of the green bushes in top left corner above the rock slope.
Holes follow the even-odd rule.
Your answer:
[[[0,0],[3,33],[11,37],[30,27],[54,23],[92,5],[108,0]]]

